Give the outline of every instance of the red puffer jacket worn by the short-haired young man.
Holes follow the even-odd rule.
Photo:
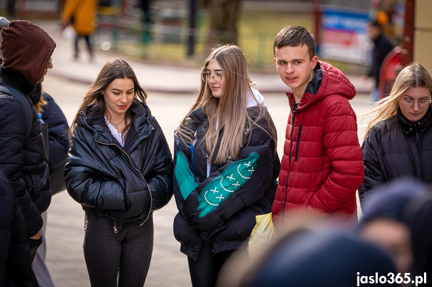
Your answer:
[[[315,77],[286,127],[279,185],[272,207],[273,223],[297,217],[351,225],[357,222],[356,190],[364,168],[356,116],[348,103],[355,96],[341,71],[318,61]]]

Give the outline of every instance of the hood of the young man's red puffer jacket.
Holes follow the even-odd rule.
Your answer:
[[[309,82],[298,108],[303,109],[327,96],[339,94],[351,100],[355,96],[354,85],[337,68],[329,63],[318,61],[315,75]],[[291,107],[294,106],[294,94],[287,92]]]

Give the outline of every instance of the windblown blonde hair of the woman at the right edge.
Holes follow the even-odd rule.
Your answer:
[[[409,88],[418,87],[426,88],[432,93],[432,77],[430,76],[429,72],[422,65],[420,65],[420,63],[414,62],[404,67],[400,71],[396,77],[396,80],[394,81],[390,94],[387,97],[377,101],[370,111],[362,115],[366,116],[368,114],[377,112],[367,125],[364,139],[366,139],[367,134],[374,125],[397,114],[397,109],[399,108],[399,98],[403,96]]]

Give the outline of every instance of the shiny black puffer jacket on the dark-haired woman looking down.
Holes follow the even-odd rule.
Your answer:
[[[122,147],[97,105],[74,130],[65,166],[66,187],[85,211],[122,226],[143,223],[171,199],[173,163],[165,136],[144,103],[130,107],[132,126]]]

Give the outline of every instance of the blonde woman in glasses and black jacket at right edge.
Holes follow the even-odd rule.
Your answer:
[[[390,94],[365,115],[373,114],[361,145],[364,181],[360,204],[368,191],[401,176],[432,183],[432,77],[411,63],[396,77]]]

